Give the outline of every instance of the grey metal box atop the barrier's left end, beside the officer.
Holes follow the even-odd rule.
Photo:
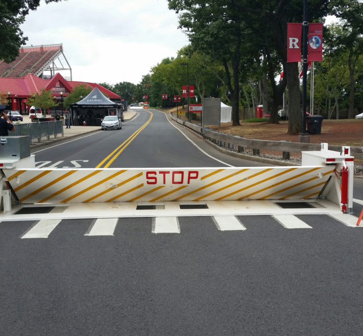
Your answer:
[[[30,156],[29,136],[0,136],[0,162],[19,160],[28,156]]]

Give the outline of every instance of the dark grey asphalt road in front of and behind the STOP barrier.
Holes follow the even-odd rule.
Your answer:
[[[149,119],[140,113],[120,131],[37,150],[37,164],[99,165]],[[125,145],[110,166],[244,165],[200,152],[155,112]],[[358,200],[362,182],[355,180]],[[362,206],[354,203],[356,215]],[[180,233],[155,234],[153,218],[119,218],[113,235],[90,235],[94,220],[62,220],[47,238],[24,238],[34,222],[2,222],[0,333],[361,334],[363,230],[328,215],[297,218],[311,228],[287,229],[256,214],[238,218],[245,230],[182,217]]]

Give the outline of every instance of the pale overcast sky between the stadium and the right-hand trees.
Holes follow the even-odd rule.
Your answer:
[[[137,84],[188,44],[177,27],[166,0],[68,0],[42,1],[21,29],[27,46],[63,43],[74,81]]]

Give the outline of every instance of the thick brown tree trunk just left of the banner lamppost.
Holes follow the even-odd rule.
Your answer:
[[[298,63],[286,63],[288,88],[288,130],[287,134],[301,133],[302,111],[300,107],[300,80]],[[285,75],[285,74],[284,74]]]

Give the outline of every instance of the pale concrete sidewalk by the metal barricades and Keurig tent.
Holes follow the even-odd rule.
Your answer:
[[[133,110],[128,110],[126,112],[124,112],[124,121],[130,120],[132,119],[136,114],[136,111]],[[24,119],[23,119],[23,123],[30,123],[30,119],[27,115],[24,115]],[[15,124],[16,127],[16,124]],[[101,131],[101,127],[100,126],[71,126],[70,128],[65,128],[65,126],[63,126],[63,134],[64,136],[62,136],[61,134],[58,134],[57,138],[54,138],[54,136],[51,136],[50,140],[47,140],[45,137],[43,137],[41,139],[41,142],[36,142],[36,139],[33,139],[33,143],[30,146],[31,149],[34,148],[38,148],[38,147],[43,147],[45,145],[49,145],[50,143],[53,142],[59,142],[59,141],[63,141],[65,139],[69,139],[69,138],[74,138],[83,134],[88,134],[88,133],[92,133],[92,132],[96,132],[96,131]]]

